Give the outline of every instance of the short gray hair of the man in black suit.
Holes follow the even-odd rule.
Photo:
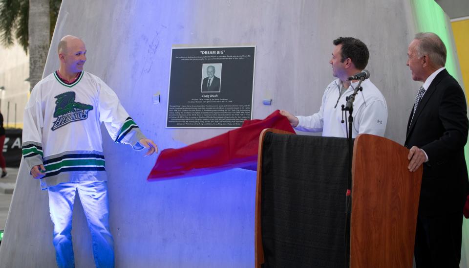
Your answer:
[[[440,37],[434,33],[417,33],[416,40],[420,40],[416,46],[417,56],[419,58],[427,55],[431,62],[438,67],[444,67],[446,64],[446,46]]]

